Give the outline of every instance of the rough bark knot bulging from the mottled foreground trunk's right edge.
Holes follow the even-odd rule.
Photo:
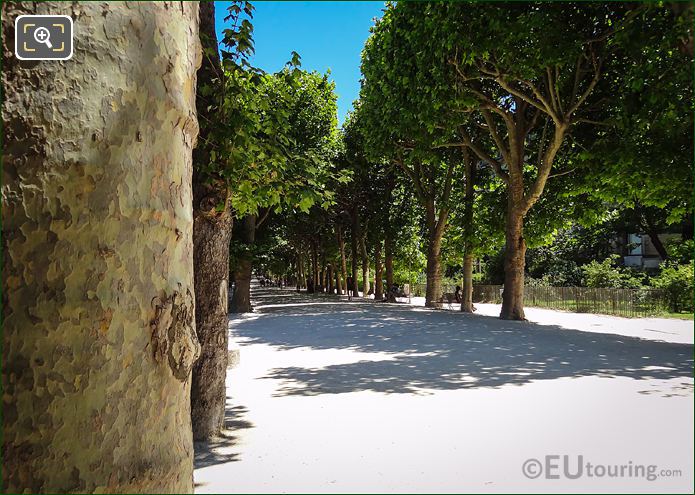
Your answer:
[[[167,360],[178,380],[186,381],[193,363],[200,356],[200,344],[195,333],[193,295],[175,291],[172,295],[155,297],[155,314],[150,321],[152,355],[156,362]]]

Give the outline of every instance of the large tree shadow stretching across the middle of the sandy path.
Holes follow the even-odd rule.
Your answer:
[[[683,378],[680,393],[692,391],[688,344],[289,290],[260,289],[253,297],[263,317],[232,318],[242,343],[375,353],[348,364],[273,369],[264,378],[283,380],[278,396],[428,393],[584,376]]]

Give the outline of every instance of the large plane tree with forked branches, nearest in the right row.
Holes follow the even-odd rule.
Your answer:
[[[437,112],[459,114],[442,127],[505,184],[502,318],[524,318],[524,220],[548,179],[568,172],[556,159],[569,136],[605,118],[611,63],[631,48],[620,34],[650,15],[648,6],[615,3],[399,3],[375,28],[394,47],[383,60],[392,74],[382,92],[412,88],[390,122],[416,113],[414,123],[431,131],[441,125]],[[483,142],[459,126],[471,118],[487,134]]]

